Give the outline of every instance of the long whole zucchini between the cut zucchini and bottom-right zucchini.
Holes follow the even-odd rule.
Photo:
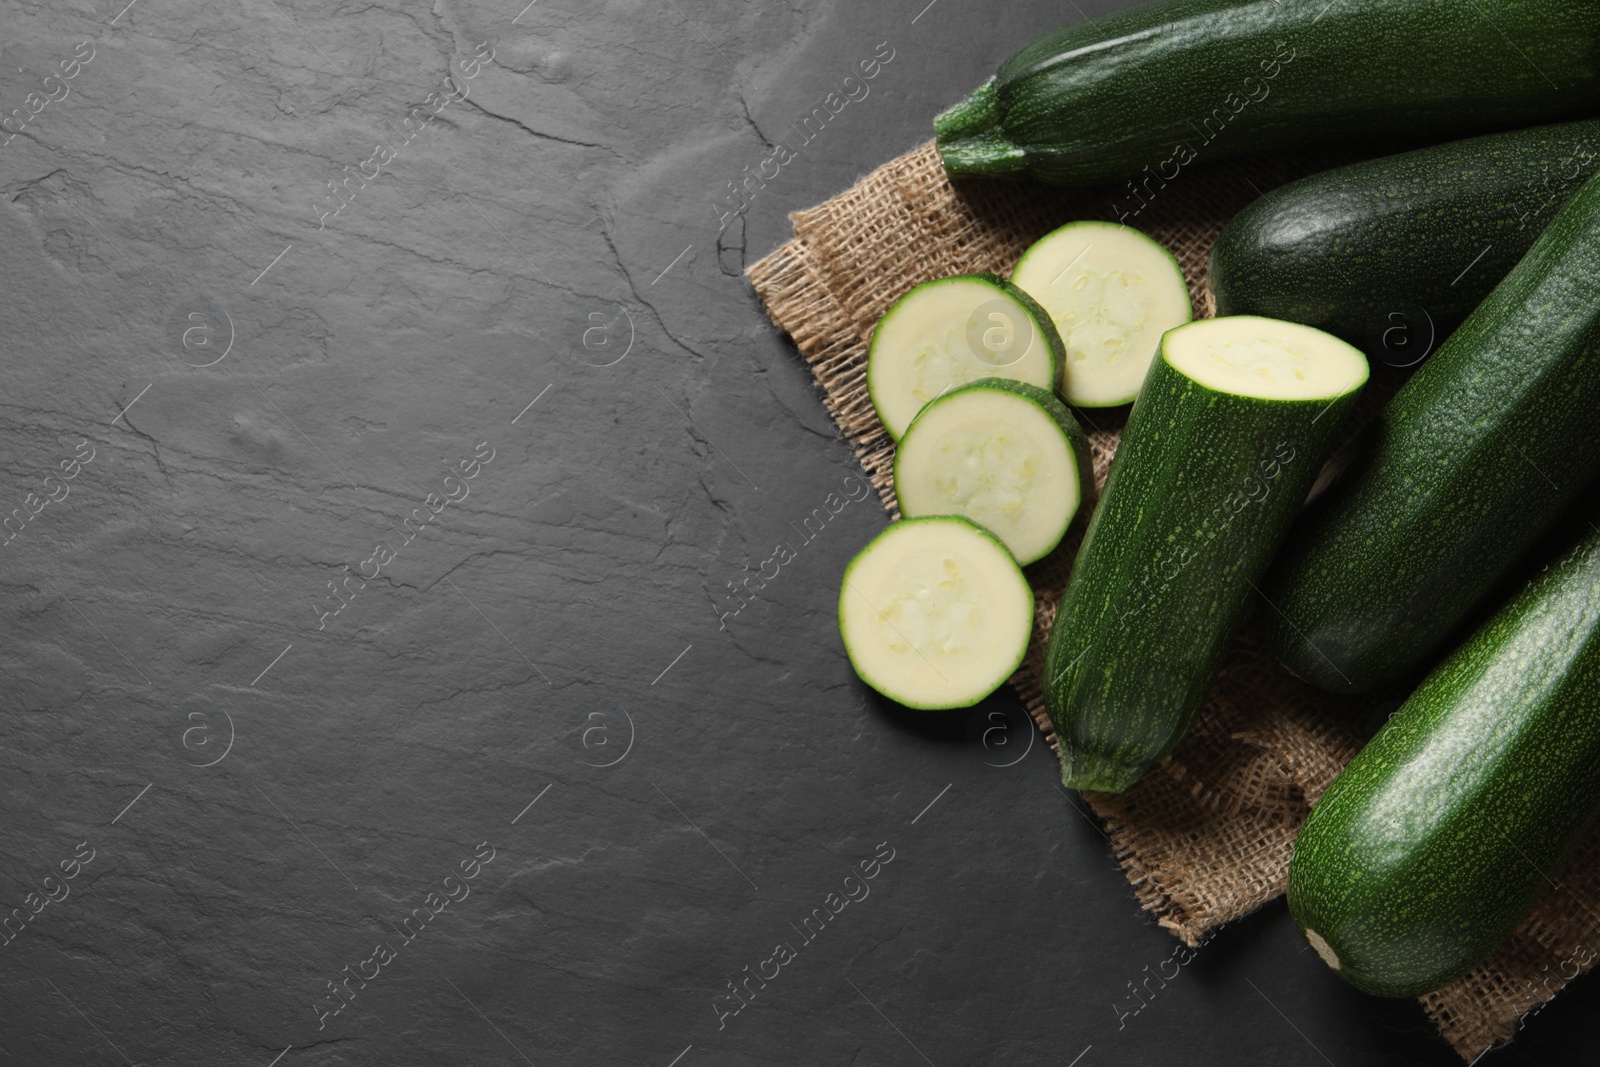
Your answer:
[[[1384,408],[1264,585],[1330,693],[1422,673],[1600,475],[1600,178]]]

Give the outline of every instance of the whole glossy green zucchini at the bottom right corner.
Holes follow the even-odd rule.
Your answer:
[[[1482,963],[1600,816],[1600,533],[1453,653],[1334,779],[1290,913],[1352,985],[1418,997]]]

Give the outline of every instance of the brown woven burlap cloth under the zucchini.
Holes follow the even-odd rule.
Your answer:
[[[893,442],[867,398],[874,323],[914,285],[952,274],[1008,275],[1018,256],[1074,219],[1138,226],[1184,267],[1195,314],[1213,312],[1205,262],[1222,224],[1261,192],[1342,158],[1253,160],[1141,181],[1109,198],[1029,182],[952,184],[933,142],[867,174],[851,189],[790,214],[794,238],[749,269],[757,294],[810,365],[822,400],[898,517]],[[1376,373],[1352,430],[1392,395]],[[1082,413],[1104,485],[1122,413]],[[1029,568],[1038,609],[1027,659],[1011,680],[1046,741],[1040,670],[1045,637],[1083,523]],[[1269,608],[1261,608],[1269,609]],[[1373,701],[1315,693],[1280,669],[1246,625],[1205,713],[1179,749],[1120,795],[1085,793],[1142,905],[1190,945],[1283,893],[1290,848],[1310,805],[1355,755]],[[1525,1013],[1595,963],[1600,837],[1590,837],[1536,912],[1485,966],[1422,997],[1440,1033],[1467,1061],[1509,1041]],[[1307,955],[1307,966],[1320,966]]]

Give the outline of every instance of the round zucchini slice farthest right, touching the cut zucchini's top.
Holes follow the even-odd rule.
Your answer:
[[[1194,318],[1173,253],[1114,222],[1046,234],[1016,261],[1011,282],[1050,314],[1066,346],[1061,395],[1080,408],[1131,403],[1162,334]]]

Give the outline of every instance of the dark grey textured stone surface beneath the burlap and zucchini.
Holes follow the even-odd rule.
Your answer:
[[[0,149],[5,509],[67,494],[0,550],[0,899],[42,907],[0,949],[0,1056],[1453,1062],[1282,907],[1131,1014],[1176,942],[1042,745],[981,744],[1006,702],[912,717],[850,670],[837,577],[883,514],[797,530],[853,466],[744,264],[1075,13],[518,6],[5,6],[0,110],[67,90]],[[718,235],[725,182],[880,42],[870,94]],[[1586,1062],[1590,985],[1498,1059]]]

